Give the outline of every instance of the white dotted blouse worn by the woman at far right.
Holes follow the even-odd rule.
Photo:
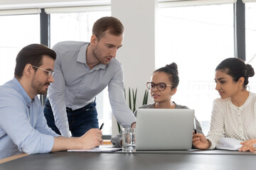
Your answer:
[[[221,137],[237,140],[256,139],[256,94],[250,92],[245,103],[237,107],[230,98],[217,98],[213,101],[210,132],[206,137],[215,149]]]

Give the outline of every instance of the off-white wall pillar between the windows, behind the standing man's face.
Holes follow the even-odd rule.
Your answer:
[[[138,89],[137,107],[142,105],[146,82],[155,66],[155,11],[156,0],[112,0],[112,16],[124,24],[123,47],[117,59],[124,68],[124,87]],[[151,100],[149,100],[151,102]],[[112,116],[112,135],[118,134]]]

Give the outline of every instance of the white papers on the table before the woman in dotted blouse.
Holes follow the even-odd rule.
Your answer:
[[[220,138],[220,145],[217,145],[217,149],[225,149],[225,150],[238,150],[242,145],[240,144],[240,140],[236,140],[230,137],[222,137]]]

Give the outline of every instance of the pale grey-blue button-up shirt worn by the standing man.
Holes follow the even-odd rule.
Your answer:
[[[66,107],[76,110],[95,100],[108,86],[112,113],[124,127],[136,118],[124,100],[124,73],[121,63],[113,58],[109,64],[97,64],[90,69],[86,64],[89,42],[65,41],[54,45],[57,53],[54,82],[48,89],[55,125],[61,135],[69,137]]]

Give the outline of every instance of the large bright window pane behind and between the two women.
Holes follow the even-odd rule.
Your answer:
[[[176,62],[180,83],[173,101],[196,111],[208,134],[215,67],[234,57],[233,4],[159,8],[156,68]]]

